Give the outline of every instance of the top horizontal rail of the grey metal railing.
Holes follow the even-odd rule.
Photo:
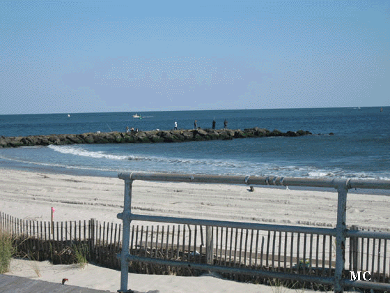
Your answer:
[[[307,186],[339,188],[390,189],[390,180],[366,179],[320,179],[283,176],[225,176],[208,174],[171,174],[148,172],[123,172],[118,174],[123,180],[170,181],[189,183],[223,183],[273,186]]]

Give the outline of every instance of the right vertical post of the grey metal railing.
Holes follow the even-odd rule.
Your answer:
[[[343,271],[345,265],[345,236],[347,225],[347,184],[345,181],[340,181],[337,186],[337,225],[336,225],[336,271],[334,280],[334,292],[343,293]]]

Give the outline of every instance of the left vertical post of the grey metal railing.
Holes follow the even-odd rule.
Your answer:
[[[122,251],[120,253],[120,290],[119,293],[132,292],[127,290],[129,280],[129,262],[127,257],[130,251],[130,215],[132,208],[132,180],[125,180],[125,200],[123,203],[123,240]]]

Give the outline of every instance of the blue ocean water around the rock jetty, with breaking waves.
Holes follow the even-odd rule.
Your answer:
[[[304,137],[165,144],[75,144],[0,149],[0,167],[116,176],[118,172],[342,176],[390,179],[390,107],[1,115],[0,135],[178,128],[309,130]],[[334,135],[328,135],[334,133]],[[321,135],[318,135],[321,134]]]

